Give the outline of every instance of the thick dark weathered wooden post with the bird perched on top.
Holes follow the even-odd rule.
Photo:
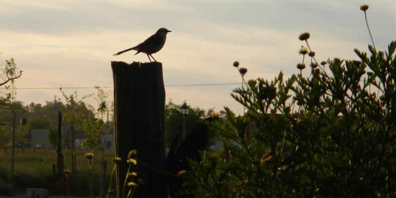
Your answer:
[[[138,173],[138,178],[143,179],[145,185],[137,188],[134,197],[167,198],[164,177],[155,171],[163,170],[165,165],[162,63],[112,61],[111,68],[114,80],[115,152],[123,159],[117,167],[117,197],[122,196],[128,152],[137,149],[138,164],[133,171]]]

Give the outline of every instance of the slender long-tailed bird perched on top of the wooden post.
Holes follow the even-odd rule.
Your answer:
[[[148,60],[150,60],[150,56],[152,59],[154,59],[154,61],[156,62],[155,58],[152,57],[151,54],[158,52],[159,50],[162,49],[162,47],[164,47],[165,41],[166,41],[166,34],[168,34],[168,32],[172,32],[166,28],[159,28],[157,30],[157,32],[155,32],[155,34],[151,35],[150,37],[148,37],[148,39],[146,39],[144,42],[142,42],[141,44],[129,48],[129,49],[125,49],[122,51],[119,51],[117,53],[114,53],[113,55],[117,56],[120,55],[121,53],[130,51],[130,50],[137,50],[138,52],[135,53],[138,54],[140,52],[146,53]]]

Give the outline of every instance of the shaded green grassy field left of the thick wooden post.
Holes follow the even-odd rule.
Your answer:
[[[85,150],[76,150],[76,164],[77,175],[70,184],[71,194],[73,196],[87,196],[89,195],[88,188],[88,175],[87,165],[88,160],[84,157]],[[62,150],[64,156],[64,168],[70,169],[70,150]],[[114,162],[112,161],[114,154],[113,151],[104,151],[104,160],[107,160],[107,177],[109,177],[113,169]],[[99,194],[100,178],[101,178],[101,165],[100,165],[100,151],[95,153],[95,179],[94,188],[96,194]],[[26,188],[44,188],[53,189],[56,186],[55,177],[52,171],[52,163],[56,163],[56,151],[46,149],[21,149],[15,150],[15,176],[14,183],[15,189],[19,192],[24,192]],[[11,149],[5,152],[0,150],[0,196],[4,194],[1,192],[2,187],[9,186],[10,184],[10,167],[11,167]],[[108,182],[108,179],[106,180]],[[56,192],[57,191],[57,192]],[[65,194],[65,188],[60,187],[51,192],[52,194]]]

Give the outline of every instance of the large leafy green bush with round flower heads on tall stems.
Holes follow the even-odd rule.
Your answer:
[[[300,35],[308,48],[299,52],[311,56],[309,76],[302,75],[303,58],[297,75],[243,79],[246,86],[234,90],[246,113],[236,116],[225,108],[209,123],[224,150],[191,161],[184,193],[396,197],[396,42],[386,52],[369,45],[370,55],[355,49],[360,60],[319,64],[308,38]],[[234,66],[244,78],[247,70]]]

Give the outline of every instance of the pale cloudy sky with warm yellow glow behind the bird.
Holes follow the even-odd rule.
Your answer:
[[[302,32],[318,61],[357,59],[353,49],[371,43],[362,4],[370,6],[377,49],[387,49],[396,40],[395,0],[0,0],[0,61],[13,57],[23,70],[15,86],[24,104],[61,98],[58,89],[41,88],[99,86],[112,98],[110,62],[148,62],[144,53],[112,54],[165,27],[172,32],[153,56],[163,65],[166,101],[240,114],[230,96],[241,87],[234,61],[247,68],[246,79],[290,77],[302,59]],[[178,86],[225,83],[233,84]],[[75,91],[95,92],[65,89]]]

